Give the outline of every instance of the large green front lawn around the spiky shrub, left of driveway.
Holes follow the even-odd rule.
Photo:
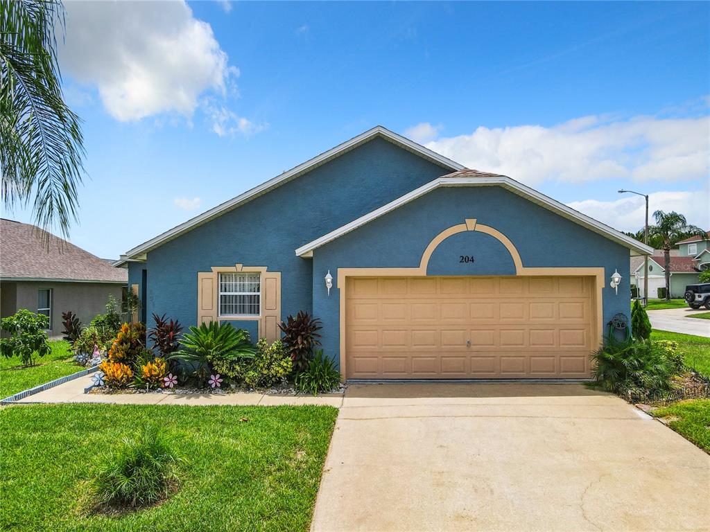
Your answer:
[[[329,406],[23,405],[0,410],[0,530],[307,531],[337,409]],[[82,509],[94,460],[155,423],[190,460],[162,504]]]

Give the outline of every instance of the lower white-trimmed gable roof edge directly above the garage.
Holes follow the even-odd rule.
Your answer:
[[[400,206],[403,206],[404,204],[408,204],[410,201],[413,201],[414,199],[417,199],[420,196],[424,196],[425,194],[428,194],[434,189],[437,189],[439,187],[466,186],[502,187],[503,189],[506,189],[509,192],[513,192],[513,194],[518,194],[518,196],[522,196],[523,198],[532,201],[532,203],[540,205],[545,209],[554,212],[555,214],[559,214],[559,216],[567,218],[568,220],[573,221],[574,223],[578,223],[580,226],[594,231],[595,233],[599,233],[600,235],[605,236],[606,238],[609,238],[610,240],[613,240],[616,243],[619,243],[625,246],[626,248],[629,248],[630,250],[640,253],[641,255],[650,255],[651,253],[653,253],[653,248],[650,248],[648,245],[638,242],[638,240],[635,240],[635,238],[631,238],[630,236],[621,233],[621,231],[616,231],[616,229],[611,228],[606,224],[601,223],[600,221],[596,221],[594,218],[586,216],[586,214],[582,214],[579,211],[575,211],[571,207],[562,204],[559,201],[556,201],[548,196],[545,196],[545,194],[541,194],[540,192],[537,192],[536,190],[531,189],[530,187],[527,187],[522,183],[515,181],[515,179],[510,179],[510,177],[507,177],[505,175],[489,174],[488,172],[479,172],[478,170],[469,170],[468,168],[464,168],[463,170],[453,172],[452,174],[447,174],[442,177],[438,177],[437,179],[434,179],[433,181],[422,185],[418,189],[415,189],[412,192],[409,192],[404,196],[400,196],[398,199],[395,199],[394,201],[391,201],[390,203],[381,206],[379,209],[376,209],[371,213],[361,216],[360,218],[357,218],[356,220],[351,221],[350,223],[346,223],[344,226],[339,227],[334,231],[331,231],[330,233],[322,235],[320,238],[316,238],[315,240],[312,240],[311,242],[305,245],[302,245],[296,250],[296,255],[299,257],[310,257],[312,256],[313,250],[315,250],[316,248],[320,248],[320,246],[327,244],[332,240],[335,240],[336,238],[340,238],[342,235],[349,233],[350,231],[354,231],[354,229],[364,226],[366,223],[373,221],[374,219],[379,218],[380,216],[383,216],[388,212],[393,211],[394,209],[397,209]]]

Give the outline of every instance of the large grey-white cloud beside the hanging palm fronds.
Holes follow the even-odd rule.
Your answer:
[[[205,91],[224,95],[229,67],[212,27],[185,1],[65,3],[62,70],[95,85],[119,121],[159,113],[190,117]]]

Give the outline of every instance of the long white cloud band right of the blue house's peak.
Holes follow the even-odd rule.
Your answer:
[[[710,174],[709,116],[617,121],[584,116],[549,128],[479,127],[449,138],[436,138],[438,129],[421,123],[407,133],[414,140],[430,136],[427,148],[467,167],[532,185],[545,180],[706,181]]]

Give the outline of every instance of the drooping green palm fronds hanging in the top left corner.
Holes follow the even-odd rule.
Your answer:
[[[32,200],[49,242],[68,234],[84,172],[80,119],[62,99],[55,26],[60,0],[0,0],[0,172],[6,208]]]

